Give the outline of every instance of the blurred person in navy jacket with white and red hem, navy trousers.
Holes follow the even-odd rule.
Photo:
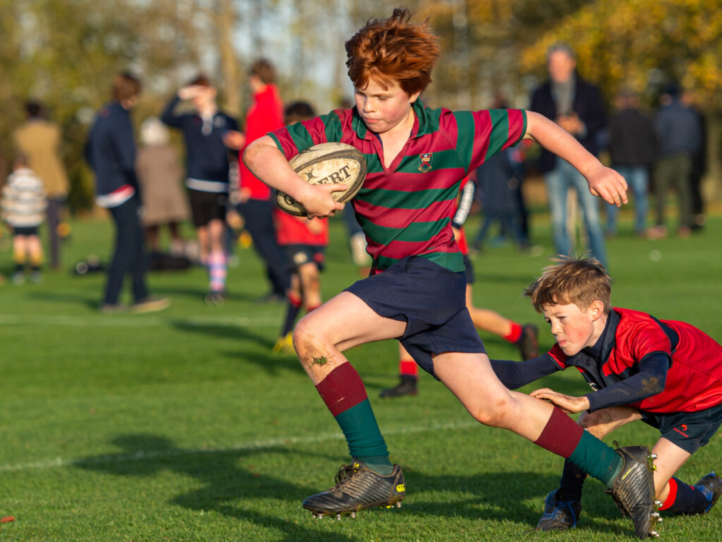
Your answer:
[[[129,72],[116,75],[113,102],[98,111],[85,146],[85,157],[95,171],[95,202],[110,211],[116,224],[116,244],[100,306],[104,314],[124,309],[118,298],[126,272],[132,278],[134,312],[160,311],[170,304],[168,299],[151,297],[145,283],[147,255],[138,217],[141,201],[130,116],[140,90],[140,80]]]

